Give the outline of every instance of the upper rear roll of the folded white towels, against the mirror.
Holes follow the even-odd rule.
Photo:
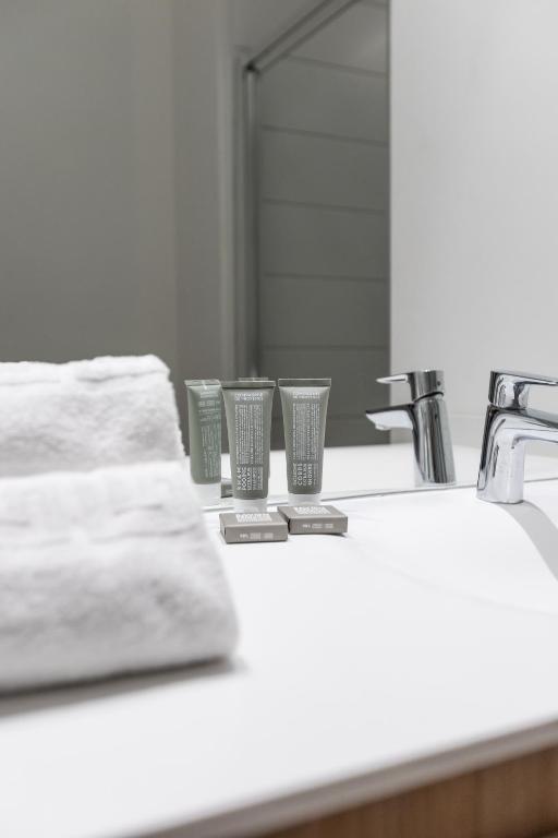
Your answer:
[[[155,356],[0,363],[0,477],[183,455],[169,370]]]

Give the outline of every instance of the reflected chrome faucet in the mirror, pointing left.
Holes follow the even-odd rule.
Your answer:
[[[413,433],[415,475],[418,486],[454,483],[456,467],[444,399],[441,370],[417,370],[377,379],[379,384],[407,382],[411,403],[366,410],[366,418],[380,431],[407,428]]]

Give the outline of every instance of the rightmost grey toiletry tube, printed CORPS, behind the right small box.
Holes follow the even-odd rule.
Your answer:
[[[331,379],[279,379],[292,506],[319,503]]]

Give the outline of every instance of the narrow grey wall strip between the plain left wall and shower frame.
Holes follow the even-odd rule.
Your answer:
[[[180,378],[230,379],[234,323],[233,57],[227,2],[175,0]]]

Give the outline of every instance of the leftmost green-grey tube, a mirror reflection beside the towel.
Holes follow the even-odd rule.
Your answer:
[[[190,474],[202,503],[221,498],[221,383],[185,381],[190,435]]]

